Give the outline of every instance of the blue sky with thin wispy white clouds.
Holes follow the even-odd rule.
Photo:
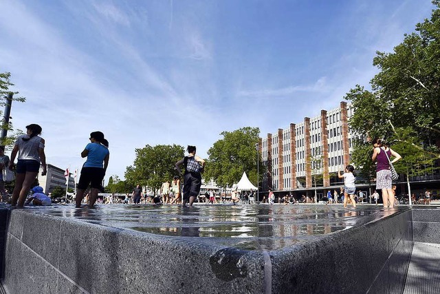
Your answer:
[[[43,127],[47,163],[79,168],[89,134],[109,140],[106,178],[145,145],[196,145],[223,131],[261,136],[338,107],[368,87],[429,18],[430,0],[0,0],[0,72],[12,123]],[[6,152],[8,154],[8,152]]]

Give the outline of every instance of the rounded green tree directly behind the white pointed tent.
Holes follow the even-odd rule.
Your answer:
[[[251,182],[257,182],[257,151],[260,129],[258,127],[243,127],[233,132],[221,132],[223,139],[218,140],[208,150],[203,178],[213,179],[217,185],[231,187],[238,182],[246,172]],[[264,167],[259,160],[259,179],[263,178]]]

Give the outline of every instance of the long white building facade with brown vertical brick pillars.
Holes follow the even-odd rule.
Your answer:
[[[348,120],[353,108],[346,102],[320,115],[305,117],[285,129],[260,138],[259,151],[267,174],[263,191],[295,191],[338,185],[334,173],[344,170],[351,160],[351,140]],[[333,174],[333,176],[331,176]]]

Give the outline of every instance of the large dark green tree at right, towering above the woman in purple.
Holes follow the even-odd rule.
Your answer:
[[[404,158],[396,165],[404,174],[431,168],[440,158],[440,4],[430,19],[417,23],[415,32],[393,52],[377,52],[373,65],[378,72],[371,90],[356,85],[347,93],[355,109],[349,120],[361,138],[385,138]],[[353,161],[371,173],[366,142],[354,144]]]

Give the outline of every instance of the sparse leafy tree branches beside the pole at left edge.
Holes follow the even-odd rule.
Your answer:
[[[10,72],[3,72],[0,73],[0,106],[4,107],[6,103],[8,103],[8,100],[6,97],[8,94],[12,93],[14,96],[12,96],[12,101],[19,101],[24,102],[26,99],[22,96],[17,96],[19,92],[13,92],[10,90],[11,87],[14,86],[14,84],[10,81]],[[0,116],[3,115],[3,111],[0,110]],[[14,143],[17,136],[23,134],[20,130],[14,131],[14,128],[12,127],[12,123],[5,124],[3,123],[1,125],[1,129],[8,129],[9,136],[6,138],[1,138],[0,145],[2,146],[10,146]]]

